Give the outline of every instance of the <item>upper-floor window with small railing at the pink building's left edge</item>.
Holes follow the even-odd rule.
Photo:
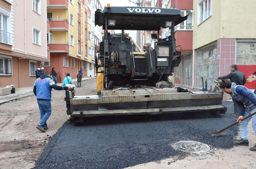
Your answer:
[[[10,43],[10,33],[7,32],[7,16],[0,14],[0,42]]]

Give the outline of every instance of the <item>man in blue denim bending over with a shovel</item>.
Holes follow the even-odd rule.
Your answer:
[[[234,144],[248,146],[248,122],[252,119],[252,128],[256,136],[256,116],[251,116],[243,121],[241,121],[241,119],[256,112],[256,94],[245,86],[236,85],[234,82],[231,83],[229,79],[223,79],[220,83],[220,88],[223,92],[231,94],[232,98],[239,106],[239,117],[237,122],[240,123],[242,139],[240,141],[235,141]],[[250,147],[250,150],[256,151],[256,144],[254,147]]]

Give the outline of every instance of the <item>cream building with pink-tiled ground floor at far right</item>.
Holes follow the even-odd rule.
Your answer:
[[[194,1],[194,87],[202,79],[213,80],[230,73],[230,65],[246,77],[245,86],[256,86],[256,18],[254,0]]]

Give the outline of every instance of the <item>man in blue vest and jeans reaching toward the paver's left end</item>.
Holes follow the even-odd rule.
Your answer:
[[[72,90],[70,86],[57,86],[51,79],[52,73],[46,71],[45,75],[41,75],[40,78],[36,79],[33,92],[36,95],[37,103],[40,111],[40,122],[36,126],[41,132],[46,132],[48,126],[46,121],[52,113],[52,88],[55,90]]]

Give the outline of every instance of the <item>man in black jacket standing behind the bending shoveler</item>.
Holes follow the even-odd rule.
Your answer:
[[[238,71],[237,65],[231,65],[230,66],[230,72],[231,72],[230,74],[228,74],[226,76],[218,77],[218,79],[220,79],[220,80],[230,79],[230,81],[236,83],[236,85],[244,86],[244,84],[246,83],[246,79],[245,79],[244,73]],[[232,116],[238,118],[238,116],[239,116],[238,105],[236,104],[234,99],[232,99],[232,102],[233,102],[233,105],[234,105],[234,114],[232,114]]]

